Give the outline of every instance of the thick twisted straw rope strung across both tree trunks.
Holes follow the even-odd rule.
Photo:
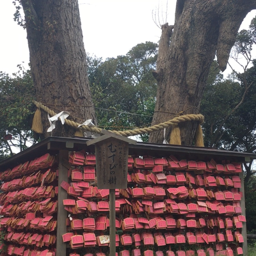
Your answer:
[[[45,112],[47,112],[49,115],[54,116],[56,113],[52,111],[51,109],[47,108],[47,106],[44,106],[42,103],[33,101],[33,103],[36,105],[37,108],[43,109]],[[140,129],[134,129],[134,130],[127,130],[127,131],[111,131],[114,132],[115,134],[122,135],[122,136],[134,136],[138,134],[145,134],[145,133],[150,133],[150,132],[155,132],[160,129],[167,128],[170,125],[177,125],[181,122],[187,122],[187,121],[198,121],[200,124],[204,122],[204,116],[201,114],[189,114],[189,115],[182,115],[182,116],[177,116],[171,120],[168,120],[166,122],[163,122],[161,124],[156,124],[150,127],[144,127]],[[71,127],[74,127],[75,129],[82,129],[85,131],[90,131],[90,132],[95,132],[95,133],[102,133],[102,129],[95,127],[95,126],[88,126],[88,125],[81,125],[77,122],[68,120],[67,118],[65,119],[65,123],[67,125],[70,125]],[[77,128],[79,125],[81,127]]]

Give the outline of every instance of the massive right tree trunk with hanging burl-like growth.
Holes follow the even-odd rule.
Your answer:
[[[225,70],[239,26],[254,8],[256,0],[177,0],[174,27],[162,26],[160,60],[153,73],[158,87],[152,125],[177,115],[199,113],[215,54],[220,69]],[[180,125],[182,145],[193,145],[196,125]],[[170,129],[167,136],[170,137]],[[149,141],[162,143],[163,130],[150,134]]]

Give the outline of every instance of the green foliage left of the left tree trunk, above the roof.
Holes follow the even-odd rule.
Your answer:
[[[19,68],[13,76],[0,72],[0,159],[35,143],[31,132],[33,82],[30,72]],[[6,140],[6,134],[11,134],[12,140]]]

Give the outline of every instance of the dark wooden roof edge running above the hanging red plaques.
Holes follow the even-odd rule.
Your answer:
[[[76,147],[88,147],[90,150],[94,150],[94,145],[86,145],[87,141],[91,141],[90,138],[66,138],[66,137],[48,137],[43,141],[36,143],[35,145],[27,148],[26,150],[15,154],[15,156],[4,159],[0,162],[0,168],[6,168],[10,166],[16,166],[17,164],[28,161],[28,159],[35,159],[47,152],[51,154],[57,154],[59,150],[72,150]],[[227,156],[227,157],[244,157],[244,159],[256,159],[256,154],[246,152],[236,152],[229,150],[221,150],[218,148],[207,147],[193,147],[182,145],[169,145],[169,144],[157,144],[157,143],[144,143],[138,142],[136,145],[130,144],[129,149],[137,152],[147,150],[156,152],[165,152],[165,154],[173,154],[174,152],[183,154],[205,154],[212,156]],[[170,155],[169,154],[169,155]],[[33,158],[32,158],[33,157]]]

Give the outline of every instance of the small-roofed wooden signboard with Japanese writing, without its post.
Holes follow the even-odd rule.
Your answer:
[[[95,144],[97,187],[99,189],[127,188],[129,143],[136,141],[112,132],[88,141]]]

